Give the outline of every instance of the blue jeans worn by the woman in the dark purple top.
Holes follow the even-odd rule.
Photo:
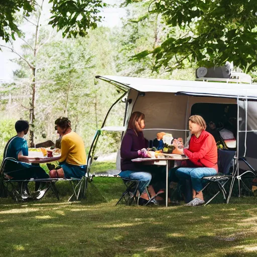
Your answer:
[[[141,194],[145,192],[152,179],[151,173],[145,171],[121,171],[118,175],[124,179],[139,180],[139,192]]]

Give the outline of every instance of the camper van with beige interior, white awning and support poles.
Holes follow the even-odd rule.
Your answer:
[[[158,132],[172,134],[174,138],[189,138],[188,118],[193,114],[204,117],[207,131],[217,146],[236,150],[238,168],[245,171],[257,169],[257,87],[240,79],[236,74],[230,78],[199,78],[200,81],[148,79],[122,76],[96,76],[118,88],[120,97],[110,106],[102,127],[96,132],[89,154],[88,172],[101,131],[126,131],[134,111],[145,114],[144,136],[150,140]],[[106,119],[121,99],[125,102],[122,126],[105,126]],[[122,137],[121,137],[122,138]],[[120,171],[120,156],[116,160]],[[88,174],[89,175],[89,174]],[[90,175],[89,175],[90,176]]]

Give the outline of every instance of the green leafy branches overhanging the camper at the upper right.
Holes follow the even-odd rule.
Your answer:
[[[163,0],[151,2],[149,10],[181,32],[168,34],[159,47],[135,56],[153,54],[156,71],[169,67],[174,57],[176,68],[188,61],[206,67],[226,61],[244,70],[257,67],[256,0]]]

